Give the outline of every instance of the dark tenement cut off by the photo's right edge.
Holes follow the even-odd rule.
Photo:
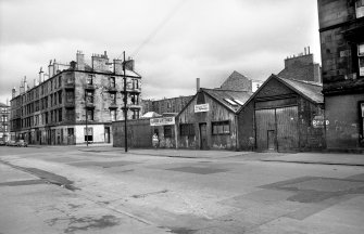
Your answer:
[[[364,0],[318,0],[328,150],[364,150]]]

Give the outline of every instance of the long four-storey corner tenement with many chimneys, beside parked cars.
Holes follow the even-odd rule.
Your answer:
[[[134,67],[134,60],[110,61],[106,52],[92,54],[90,62],[79,51],[70,64],[51,61],[32,88],[24,78],[20,90],[12,90],[12,139],[52,145],[112,142],[111,122],[124,119],[124,101],[128,119],[140,115],[141,76]]]

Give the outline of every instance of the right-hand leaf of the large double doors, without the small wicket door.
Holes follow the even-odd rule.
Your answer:
[[[297,106],[276,108],[278,151],[298,151],[298,108]]]

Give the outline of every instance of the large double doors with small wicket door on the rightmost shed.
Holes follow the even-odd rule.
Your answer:
[[[298,151],[298,107],[256,109],[258,151]]]

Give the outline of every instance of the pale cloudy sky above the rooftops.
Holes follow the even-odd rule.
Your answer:
[[[50,60],[126,51],[143,98],[218,87],[234,70],[264,80],[311,47],[321,63],[316,0],[0,0],[0,102]]]

